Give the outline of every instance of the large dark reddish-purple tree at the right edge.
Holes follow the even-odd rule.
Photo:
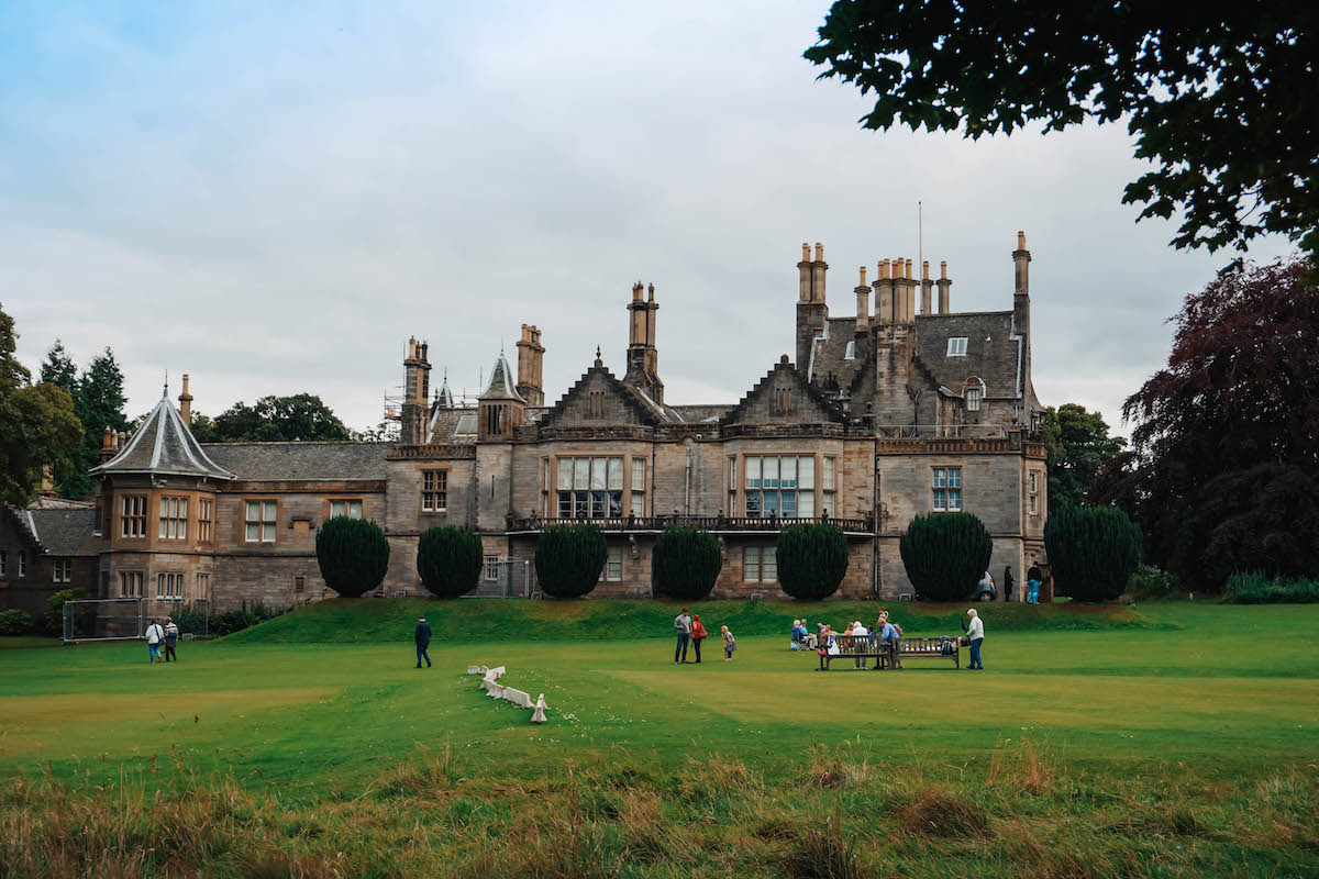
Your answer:
[[[1319,289],[1306,269],[1249,268],[1187,297],[1167,366],[1124,407],[1133,452],[1091,486],[1190,589],[1239,571],[1319,577]]]

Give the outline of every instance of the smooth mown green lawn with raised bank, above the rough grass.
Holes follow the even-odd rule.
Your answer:
[[[397,635],[400,621],[415,611],[415,605],[390,604],[360,605],[377,619],[371,623],[377,635],[386,631],[381,619],[390,621],[388,631]],[[714,776],[721,772],[714,768],[716,762],[753,774],[764,789],[751,800],[786,796],[791,803],[802,774],[823,771],[819,767],[832,759],[840,762],[840,778],[860,772],[855,789],[844,785],[835,796],[840,826],[861,821],[853,830],[861,838],[878,834],[878,839],[890,839],[893,829],[871,826],[864,814],[845,810],[848,797],[859,796],[867,784],[878,785],[874,796],[884,791],[898,796],[884,785],[910,787],[915,780],[955,791],[968,779],[1002,771],[1005,762],[1018,768],[1038,762],[1051,778],[1089,779],[1086,784],[1112,791],[1111,796],[1136,788],[1162,796],[1178,785],[1190,785],[1186,791],[1202,785],[1217,789],[1224,801],[1248,796],[1242,780],[1253,784],[1299,772],[1303,787],[1289,808],[1311,809],[1315,801],[1319,675],[1306,647],[1319,625],[1319,608],[1151,605],[1140,614],[1116,611],[1104,629],[1064,631],[1074,627],[1064,608],[1039,611],[1035,629],[1013,630],[1005,614],[1037,611],[998,606],[987,626],[985,672],[923,662],[909,663],[902,672],[856,673],[851,663],[836,662],[835,671],[819,673],[811,671],[814,655],[785,648],[786,634],[739,633],[736,662],[721,662],[718,644],[711,644],[702,666],[671,664],[667,638],[609,639],[615,633],[654,631],[652,617],[671,618],[667,608],[620,605],[616,619],[595,619],[590,626],[580,617],[608,614],[609,602],[550,605],[537,611],[566,617],[559,625],[568,631],[570,618],[579,617],[579,637],[563,640],[526,637],[532,623],[525,618],[497,623],[501,617],[532,613],[532,604],[422,605],[430,609],[437,631],[463,642],[434,643],[435,666],[421,671],[413,668],[405,626],[393,642],[377,637],[369,643],[326,643],[352,639],[343,630],[351,614],[342,606],[276,619],[219,642],[182,644],[177,666],[148,666],[145,647],[135,643],[0,651],[0,778],[32,783],[45,775],[45,784],[86,796],[135,789],[149,797],[157,788],[177,791],[178,774],[186,772],[193,779],[224,779],[253,797],[274,797],[285,810],[315,809],[353,801],[379,789],[383,779],[430,766],[434,755],[445,754],[443,770],[417,781],[421,787],[413,793],[429,796],[422,788],[451,787],[456,779],[474,785],[472,791],[489,792],[514,780],[553,780],[570,767],[590,775],[625,762],[660,779],[656,796],[665,805],[663,791],[678,789],[681,783],[662,780],[678,779],[699,760]],[[873,611],[873,605],[868,608]],[[794,615],[791,605],[749,610],[740,605],[736,610],[744,614],[739,618],[743,633]],[[732,618],[732,610],[721,605],[700,611],[712,631]],[[809,615],[824,618],[818,610]],[[909,634],[939,631],[951,619],[934,611],[907,615]],[[326,622],[331,618],[335,625]],[[998,629],[995,618],[1002,622]],[[309,631],[321,633],[319,643]],[[529,712],[485,698],[476,679],[462,673],[470,663],[504,664],[509,669],[505,683],[533,697],[543,692],[550,722],[534,726]],[[868,774],[884,780],[865,781],[874,778]],[[909,787],[902,796],[923,796],[925,788]],[[801,808],[815,808],[811,803],[802,800]],[[736,809],[727,808],[732,812],[724,818],[737,824]],[[798,807],[783,808],[791,817]],[[1000,810],[1013,809],[1017,805]],[[616,812],[609,821],[624,820]],[[681,816],[669,817],[681,821]],[[822,821],[815,824],[823,826]],[[996,839],[1010,837],[1006,824],[995,826]],[[627,833],[620,834],[623,841],[600,845],[605,850],[621,846],[624,857]],[[1232,833],[1223,834],[1213,843],[1221,851],[1210,842],[1206,851],[1232,857],[1241,849]],[[1315,850],[1306,847],[1306,839],[1314,841]],[[460,847],[462,841],[447,845]],[[871,849],[877,851],[878,845]],[[1301,854],[1287,846],[1299,846]],[[1306,875],[1287,872],[1287,865],[1319,870],[1319,837],[1312,832],[1304,839],[1274,839],[1262,850],[1254,865],[1282,865],[1277,875]],[[925,863],[921,851],[904,853],[909,858],[904,863]],[[827,853],[820,857],[828,858]],[[877,868],[874,858],[856,857],[859,870]],[[1001,867],[1002,875],[1016,875],[1021,865],[1014,857],[993,855],[981,870],[997,875]],[[1178,855],[1188,857],[1184,850]],[[1043,863],[1041,858],[1035,861]],[[1124,875],[1195,875],[1210,863],[1178,858],[1158,870],[1145,865]],[[652,859],[646,868],[674,867],[671,875],[686,875],[678,870],[681,863],[670,861]],[[1241,875],[1256,872],[1248,862]],[[782,867],[785,862],[774,863]],[[468,866],[475,870],[476,862]]]

